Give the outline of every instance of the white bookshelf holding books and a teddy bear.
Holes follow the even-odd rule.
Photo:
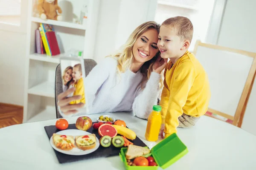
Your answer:
[[[78,50],[83,51],[84,59],[93,59],[100,0],[58,0],[62,21],[33,16],[35,0],[28,2],[23,122],[36,122],[56,118],[55,70],[59,58]],[[87,5],[87,22],[74,23],[70,16],[79,17],[83,5]],[[36,53],[35,30],[40,23],[53,25],[61,54],[49,57]]]

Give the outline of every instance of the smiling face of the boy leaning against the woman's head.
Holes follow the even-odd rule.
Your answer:
[[[158,34],[157,47],[162,58],[179,58],[183,42],[174,28],[161,26]]]

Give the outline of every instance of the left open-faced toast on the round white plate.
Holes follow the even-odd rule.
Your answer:
[[[75,147],[75,140],[73,136],[58,135],[53,133],[53,144],[61,150],[71,150]]]

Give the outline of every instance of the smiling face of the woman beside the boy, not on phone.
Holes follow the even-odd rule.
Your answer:
[[[144,63],[152,59],[159,51],[158,32],[154,28],[145,31],[134,43],[132,52],[135,62]]]

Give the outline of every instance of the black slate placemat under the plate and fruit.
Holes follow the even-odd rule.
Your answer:
[[[93,122],[93,123],[95,123],[95,122]],[[76,124],[69,124],[67,129],[77,129]],[[46,131],[47,136],[48,136],[49,139],[52,137],[53,133],[57,133],[58,131],[61,131],[61,130],[58,130],[55,127],[55,125],[45,126],[44,130]],[[96,135],[96,137],[98,139],[100,139],[98,130],[93,129],[93,127],[91,127],[89,130],[87,130],[87,132],[94,133]],[[146,144],[142,140],[140,140],[140,138],[138,138],[138,137],[136,137],[136,139],[134,139],[131,142],[134,143],[137,146],[142,146],[142,147],[146,146]],[[120,149],[121,149],[121,147],[119,147],[119,148],[114,147],[113,144],[111,144],[110,147],[102,147],[100,145],[99,148],[97,150],[95,150],[93,153],[89,153],[87,155],[80,155],[80,156],[67,155],[67,154],[64,154],[64,153],[60,153],[55,149],[53,149],[53,150],[55,151],[55,154],[58,158],[59,163],[62,164],[62,163],[67,163],[67,162],[80,161],[80,160],[84,160],[84,159],[118,156],[119,152],[120,152]]]

